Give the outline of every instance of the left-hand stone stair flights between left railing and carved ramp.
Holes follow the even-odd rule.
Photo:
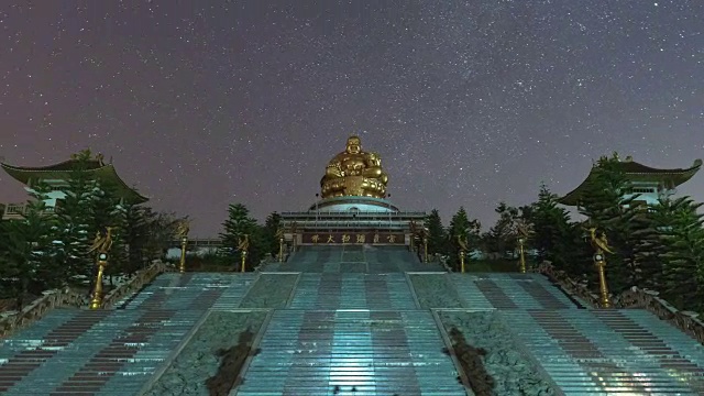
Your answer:
[[[119,309],[54,310],[0,343],[0,394],[136,395],[224,288],[245,278],[164,274]]]

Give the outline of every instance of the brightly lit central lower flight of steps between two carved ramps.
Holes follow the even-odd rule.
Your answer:
[[[258,346],[238,395],[466,395],[427,311],[280,310]]]

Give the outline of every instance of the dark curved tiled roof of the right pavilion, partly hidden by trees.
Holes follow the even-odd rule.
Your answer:
[[[676,187],[691,179],[702,167],[702,160],[694,161],[689,168],[660,169],[639,164],[634,161],[619,162],[619,167],[631,182],[661,182],[670,187]],[[591,183],[594,175],[594,167],[590,170],[584,182],[575,189],[558,199],[558,202],[566,206],[576,206],[582,194]]]

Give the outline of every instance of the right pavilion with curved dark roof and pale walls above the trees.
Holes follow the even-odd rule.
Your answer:
[[[661,198],[674,195],[678,186],[691,179],[700,170],[702,160],[694,161],[694,164],[688,168],[675,169],[646,166],[635,162],[631,156],[626,157],[618,164],[631,184],[631,188],[626,191],[624,198],[638,195],[638,198],[634,201],[636,205],[651,206],[658,205]],[[558,201],[565,206],[580,206],[580,201],[594,177],[594,167],[592,167],[584,182]]]

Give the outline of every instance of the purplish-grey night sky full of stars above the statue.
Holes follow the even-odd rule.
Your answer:
[[[392,201],[460,206],[576,187],[618,151],[704,157],[704,1],[0,1],[0,156],[90,147],[155,209],[216,237],[316,200],[351,133]],[[704,174],[679,189],[704,200]],[[23,201],[0,174],[0,201]]]

